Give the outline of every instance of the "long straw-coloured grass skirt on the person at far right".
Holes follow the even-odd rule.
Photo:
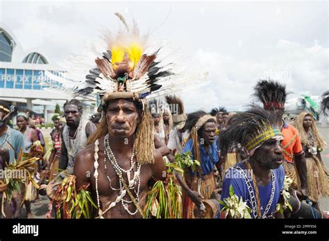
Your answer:
[[[316,156],[306,158],[308,193],[313,199],[329,195],[329,179],[326,167]],[[327,172],[328,173],[328,172]]]

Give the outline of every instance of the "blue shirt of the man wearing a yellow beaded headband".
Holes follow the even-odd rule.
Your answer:
[[[239,166],[242,169],[246,169],[244,166],[244,163],[238,163],[236,166]],[[280,190],[284,187],[284,180],[285,180],[285,171],[283,170],[283,166],[281,165],[278,169],[273,170],[274,175],[276,176],[276,190],[274,193],[273,202],[271,204],[271,208],[269,208],[268,214],[273,213],[276,210],[276,204],[278,204],[278,200],[280,198]],[[247,172],[245,172],[247,173]],[[248,177],[248,175],[247,175]],[[251,181],[251,185],[253,186],[253,180],[252,177],[248,177],[248,179]],[[246,182],[244,181],[243,177],[240,177],[239,172],[233,167],[228,168],[226,171],[226,175],[223,179],[223,189],[221,191],[221,200],[223,201],[224,198],[229,197],[229,188],[230,186],[233,186],[233,190],[235,195],[238,197],[242,197],[244,202],[247,202],[247,205],[251,208],[250,203],[250,195],[248,193],[248,189],[246,186]],[[272,181],[269,181],[269,184],[266,186],[258,186],[258,190],[260,193],[260,208],[262,214],[264,213],[265,207],[267,206],[267,203],[269,202],[270,196],[271,196],[271,188],[272,188]],[[255,189],[254,189],[255,192]],[[221,208],[223,206],[221,205]],[[251,213],[251,217],[253,217],[253,213]]]

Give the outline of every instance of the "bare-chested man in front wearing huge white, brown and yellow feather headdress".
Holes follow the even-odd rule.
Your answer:
[[[101,123],[74,166],[76,187],[90,185],[99,218],[144,217],[149,181],[165,179],[162,155],[155,150],[153,119],[145,97],[160,89],[158,82],[169,75],[155,62],[158,51],[144,53],[138,30],[108,44],[108,51],[96,59],[97,68],[87,75],[86,87],[78,92],[101,95]],[[86,173],[88,175],[86,175]]]

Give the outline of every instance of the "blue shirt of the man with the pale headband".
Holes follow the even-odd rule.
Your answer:
[[[217,139],[214,140],[212,145],[210,145],[210,148],[208,150],[208,153],[211,155],[212,158],[208,156],[208,154],[205,152],[205,148],[203,145],[200,145],[200,166],[202,175],[208,175],[214,170],[214,164],[218,162],[218,152],[217,152]],[[194,150],[193,150],[193,141],[192,139],[189,139],[187,141],[185,147],[183,148],[183,153],[185,152],[191,152],[192,153],[192,159],[194,159]],[[191,176],[200,176],[200,173],[193,173],[192,170],[189,171]]]

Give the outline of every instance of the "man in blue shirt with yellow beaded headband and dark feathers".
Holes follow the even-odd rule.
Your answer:
[[[219,136],[221,155],[226,157],[232,141],[244,145],[248,159],[226,171],[221,200],[230,197],[230,186],[237,197],[251,208],[252,218],[272,218],[284,188],[283,150],[280,145],[280,118],[260,107],[235,116],[234,123]],[[221,206],[222,208],[223,206]],[[228,217],[232,217],[229,211]],[[278,214],[276,214],[278,215]]]

